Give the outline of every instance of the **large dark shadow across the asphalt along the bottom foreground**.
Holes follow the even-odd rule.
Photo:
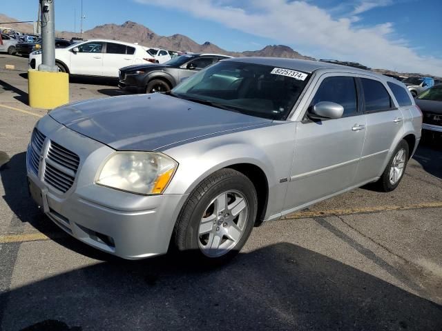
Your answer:
[[[50,268],[50,254],[46,255]],[[290,243],[194,268],[98,263],[1,294],[4,330],[438,330],[442,308]],[[55,328],[57,326],[57,328]]]

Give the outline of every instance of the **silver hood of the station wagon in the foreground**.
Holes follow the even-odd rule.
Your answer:
[[[272,123],[160,93],[70,103],[49,116],[115,150],[144,151]]]

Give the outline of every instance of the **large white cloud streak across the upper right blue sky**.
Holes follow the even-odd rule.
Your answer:
[[[442,59],[417,54],[407,45],[407,41],[394,37],[393,23],[357,27],[354,26],[357,20],[354,14],[348,18],[334,19],[322,8],[305,1],[238,1],[245,3],[242,8],[234,6],[235,2],[230,0],[136,1],[177,8],[229,28],[267,37],[278,43],[288,43],[294,48],[312,50],[313,54],[307,55],[358,61],[372,68],[442,76]],[[365,5],[365,10],[367,8]]]

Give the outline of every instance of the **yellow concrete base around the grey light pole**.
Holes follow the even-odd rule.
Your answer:
[[[69,102],[69,74],[28,70],[29,106],[52,109]]]

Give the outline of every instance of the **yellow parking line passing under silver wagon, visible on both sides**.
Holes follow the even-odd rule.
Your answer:
[[[330,216],[344,216],[352,214],[369,214],[374,212],[385,212],[389,210],[412,210],[423,208],[442,208],[442,201],[417,203],[415,205],[382,205],[379,207],[354,208],[354,209],[334,209],[334,210],[318,210],[312,212],[296,212],[290,214],[282,219],[307,219],[311,217],[330,217]],[[54,233],[46,236],[43,233],[28,233],[28,234],[9,234],[0,236],[0,243],[24,243],[26,241],[45,241],[51,238],[64,238],[68,234]]]

